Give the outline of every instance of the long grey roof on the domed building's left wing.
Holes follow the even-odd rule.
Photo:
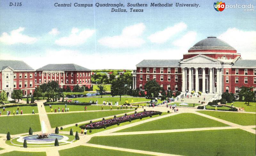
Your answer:
[[[144,59],[136,66],[138,67],[179,67],[180,59]]]

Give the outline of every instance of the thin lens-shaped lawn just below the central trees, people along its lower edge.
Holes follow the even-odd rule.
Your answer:
[[[133,99],[133,102],[144,102],[144,101],[150,101],[146,98],[140,98],[140,97],[80,97],[80,98],[70,98],[69,100],[78,100],[79,102],[86,102],[89,103],[90,100],[96,102],[98,100],[98,104],[102,104],[103,101],[109,101],[112,102],[113,105],[115,105],[115,102],[118,102],[119,105],[123,105],[125,103],[125,100],[128,100],[128,103],[131,103]]]

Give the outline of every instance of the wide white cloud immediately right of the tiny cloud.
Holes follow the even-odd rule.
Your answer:
[[[86,40],[95,33],[93,29],[84,29],[80,31],[77,28],[71,30],[71,34],[67,37],[61,37],[55,43],[60,46],[75,46],[86,42]]]

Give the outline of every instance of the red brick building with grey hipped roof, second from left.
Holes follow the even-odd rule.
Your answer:
[[[91,70],[76,64],[48,64],[36,70],[35,85],[56,81],[61,88],[73,90],[77,84],[91,88]]]

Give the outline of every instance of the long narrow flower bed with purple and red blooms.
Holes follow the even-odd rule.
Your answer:
[[[162,112],[158,111],[145,111],[141,113],[134,113],[131,115],[126,115],[118,118],[113,118],[113,119],[108,119],[108,120],[103,120],[103,121],[98,121],[98,122],[93,122],[90,124],[82,125],[80,126],[81,129],[102,129],[108,126],[116,125],[118,123],[122,122],[127,122],[130,120],[135,120],[135,119],[140,119],[140,118],[145,118],[148,116],[156,115],[156,114],[162,114]]]

